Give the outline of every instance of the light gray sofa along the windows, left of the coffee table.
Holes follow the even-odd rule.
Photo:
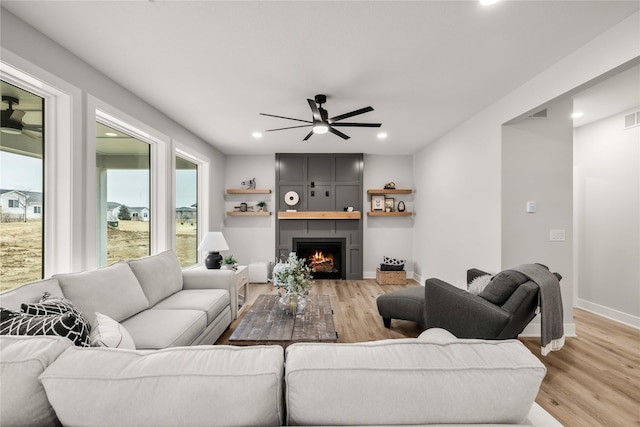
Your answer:
[[[136,349],[213,344],[237,310],[233,271],[183,271],[172,250],[29,283],[0,294],[0,307],[20,311],[44,292],[70,300],[92,326],[96,312],[120,322]]]

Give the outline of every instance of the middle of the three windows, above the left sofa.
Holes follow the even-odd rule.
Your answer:
[[[98,265],[151,253],[151,146],[96,122]]]

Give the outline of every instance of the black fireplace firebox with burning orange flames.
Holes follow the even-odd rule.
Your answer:
[[[307,260],[314,279],[345,279],[345,249],[345,239],[293,239],[294,252]]]

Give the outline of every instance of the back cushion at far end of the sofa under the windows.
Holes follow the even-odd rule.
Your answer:
[[[182,289],[182,268],[173,250],[128,263],[149,300],[149,306]]]

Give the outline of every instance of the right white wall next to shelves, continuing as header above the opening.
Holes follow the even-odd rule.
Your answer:
[[[501,126],[640,56],[639,21],[635,13],[415,155],[413,254],[421,278],[464,287],[470,267],[508,267],[502,265]]]

